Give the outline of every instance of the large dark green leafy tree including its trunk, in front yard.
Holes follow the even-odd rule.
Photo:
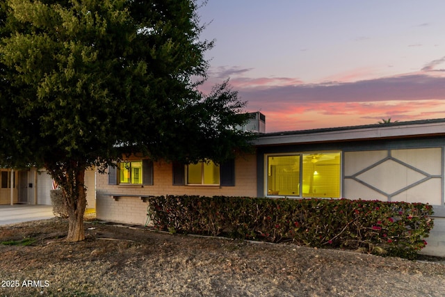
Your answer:
[[[224,161],[248,147],[244,103],[208,67],[193,0],[0,1],[0,163],[44,166],[84,239],[84,173],[122,154]],[[198,83],[196,78],[200,78]]]

